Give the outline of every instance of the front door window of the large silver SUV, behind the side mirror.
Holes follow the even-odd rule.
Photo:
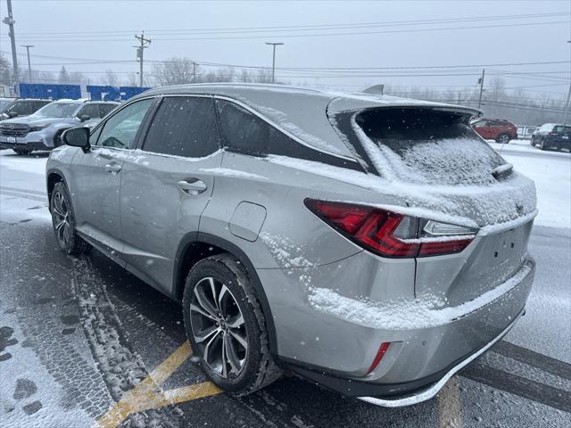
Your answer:
[[[105,122],[101,134],[94,143],[103,147],[135,148],[137,131],[153,101],[150,98],[137,101],[118,111]]]

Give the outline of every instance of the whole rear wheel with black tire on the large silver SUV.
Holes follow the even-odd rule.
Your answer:
[[[222,291],[224,285],[228,290]],[[208,292],[210,287],[214,287],[218,290],[219,297],[211,299],[215,297],[216,292],[211,292],[210,295],[201,294],[201,287],[206,287],[202,289],[203,292]],[[195,288],[197,293],[203,296],[202,299],[220,302],[217,308],[211,307],[211,311],[205,314],[204,308],[208,305],[199,301],[198,294],[194,292]],[[213,310],[219,310],[219,315],[223,316],[216,319],[211,317]],[[211,256],[194,265],[186,277],[183,311],[186,335],[193,353],[200,358],[204,373],[222,390],[238,396],[247,395],[274,382],[281,375],[281,370],[269,352],[268,331],[251,280],[240,262],[231,255]],[[228,316],[228,312],[232,311],[235,315]],[[231,327],[240,323],[236,321],[238,319],[243,320],[240,327]],[[240,336],[240,342],[236,340],[236,334]],[[197,342],[195,335],[201,342]],[[225,341],[228,341],[228,344]],[[246,343],[247,348],[241,345],[241,342]],[[226,360],[225,354],[222,353],[223,347],[226,350]],[[209,352],[205,353],[206,349]],[[228,357],[230,354],[240,363],[239,370],[232,366],[230,362],[232,358]],[[204,358],[205,355],[214,361],[209,364]],[[218,357],[221,363],[213,364]]]

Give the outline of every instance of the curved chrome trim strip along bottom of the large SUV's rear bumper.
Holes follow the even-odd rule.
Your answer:
[[[476,353],[472,354],[470,357],[461,361],[458,366],[452,367],[450,372],[445,374],[444,377],[440,381],[438,381],[437,383],[434,383],[434,385],[432,385],[430,388],[428,388],[422,392],[415,393],[414,395],[411,395],[410,397],[406,397],[404,399],[377,399],[375,397],[357,397],[357,399],[360,399],[362,401],[367,401],[368,403],[374,404],[376,406],[381,406],[381,407],[403,407],[403,406],[410,406],[413,404],[422,403],[423,401],[426,401],[427,399],[434,398],[434,396],[440,390],[442,390],[444,384],[446,384],[454,374],[457,374],[462,368],[464,368],[465,366],[468,366],[468,364],[470,364],[476,358],[478,358],[482,354],[484,354],[484,352],[486,350],[489,350],[490,348],[492,348],[492,346],[496,342],[499,342],[501,340],[501,338],[503,336],[505,336],[509,332],[509,330],[511,330],[511,328],[516,324],[517,320],[522,315],[524,315],[524,312],[525,312],[525,309],[522,310],[517,315],[517,317],[511,322],[511,324],[508,325],[508,327],[506,327],[506,329],[503,332],[501,332],[492,342],[489,342],[487,345],[484,346],[484,348],[482,348],[481,350],[478,350]]]

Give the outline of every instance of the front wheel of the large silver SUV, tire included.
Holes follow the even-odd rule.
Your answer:
[[[71,205],[70,193],[62,181],[54,185],[50,200],[50,212],[55,241],[62,251],[70,256],[79,256],[91,248],[91,245],[86,243],[75,230],[75,215]]]

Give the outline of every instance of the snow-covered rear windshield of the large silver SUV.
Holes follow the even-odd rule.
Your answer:
[[[353,113],[352,132],[381,175],[433,185],[482,185],[506,163],[469,126],[469,116],[431,109]]]

